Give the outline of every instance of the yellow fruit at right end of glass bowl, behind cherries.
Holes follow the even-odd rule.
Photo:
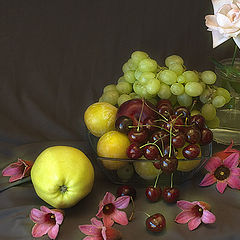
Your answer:
[[[183,148],[185,148],[188,145],[188,143],[186,143],[182,148],[178,148],[178,154],[177,154],[177,159],[181,159],[180,161],[178,161],[178,167],[177,170],[181,171],[181,172],[189,172],[192,171],[194,168],[196,168],[201,160],[200,159],[185,159],[185,157],[182,154],[182,150]],[[198,144],[197,144],[198,145]],[[198,145],[199,146],[199,145]],[[200,146],[199,146],[200,147]],[[201,149],[201,147],[200,147]],[[201,151],[198,155],[198,158],[200,158],[202,156]]]

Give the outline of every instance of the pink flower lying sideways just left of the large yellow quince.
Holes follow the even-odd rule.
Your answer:
[[[9,182],[20,180],[30,175],[33,162],[18,158],[17,162],[11,163],[2,170],[3,176],[10,176]]]

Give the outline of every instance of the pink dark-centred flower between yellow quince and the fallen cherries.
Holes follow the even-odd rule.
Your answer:
[[[111,227],[114,222],[121,225],[127,225],[127,214],[124,211],[119,211],[118,209],[126,208],[129,201],[129,196],[122,196],[116,199],[112,193],[106,192],[103,200],[100,201],[99,210],[96,216],[103,218],[103,223],[106,227]]]

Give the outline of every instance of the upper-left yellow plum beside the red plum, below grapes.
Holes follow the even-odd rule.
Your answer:
[[[110,103],[96,102],[84,113],[84,122],[88,130],[96,137],[115,129],[117,108]]]

